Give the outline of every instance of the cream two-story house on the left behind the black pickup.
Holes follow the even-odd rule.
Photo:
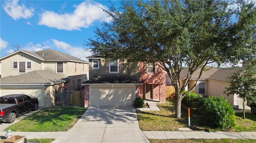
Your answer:
[[[66,53],[46,49],[18,50],[0,58],[0,96],[27,94],[39,99],[39,106],[54,105],[60,87],[80,89],[89,78],[89,63]]]

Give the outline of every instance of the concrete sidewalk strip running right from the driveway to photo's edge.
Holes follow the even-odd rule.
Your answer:
[[[197,132],[197,131],[143,131],[148,139],[220,139],[249,138],[256,139],[256,132]]]

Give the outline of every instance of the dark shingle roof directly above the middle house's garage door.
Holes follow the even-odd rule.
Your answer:
[[[141,84],[142,82],[127,75],[100,75],[90,80],[87,80],[82,84],[103,84],[103,83]]]

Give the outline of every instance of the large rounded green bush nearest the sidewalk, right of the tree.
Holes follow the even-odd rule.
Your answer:
[[[208,125],[218,129],[229,129],[235,126],[235,111],[225,97],[204,98],[202,109]]]

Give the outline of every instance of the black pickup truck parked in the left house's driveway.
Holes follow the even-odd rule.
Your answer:
[[[38,109],[38,99],[25,94],[10,94],[0,97],[0,121],[13,123],[16,116]]]

